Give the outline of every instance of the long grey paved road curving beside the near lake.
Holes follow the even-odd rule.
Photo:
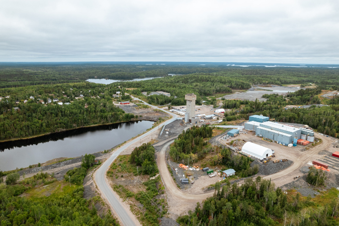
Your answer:
[[[135,100],[139,100],[137,98],[134,98]],[[141,101],[141,100],[139,100]],[[147,104],[146,102],[144,102],[145,105],[148,105],[152,108],[156,108],[159,109],[161,111],[164,111],[160,108],[154,107],[150,104]],[[168,122],[172,122],[174,120],[176,120],[177,116],[174,113],[170,113],[170,112],[166,112],[169,113],[170,115],[172,115],[173,117],[171,119],[169,119],[169,121],[163,122],[161,123],[159,126],[163,126]],[[126,144],[124,144],[122,147],[120,147],[116,152],[114,152],[111,157],[109,157],[108,160],[106,160],[101,166],[100,168],[96,171],[95,174],[95,182],[97,184],[97,186],[99,187],[99,189],[101,190],[102,194],[106,197],[106,199],[108,200],[109,204],[113,207],[113,209],[115,210],[115,212],[117,213],[118,217],[120,218],[122,224],[124,226],[136,226],[135,223],[133,222],[133,220],[130,218],[130,216],[128,215],[128,213],[126,212],[126,210],[123,208],[122,204],[118,201],[117,197],[114,196],[114,194],[111,192],[111,189],[109,187],[109,184],[106,183],[105,181],[105,173],[107,171],[107,169],[109,168],[109,166],[113,163],[113,161],[116,159],[116,157],[122,152],[124,151],[127,147],[129,147],[130,145],[138,142],[140,139],[146,137],[147,135],[151,134],[152,132],[156,131],[158,129],[158,127],[155,127],[154,129],[151,129],[150,131],[148,131],[147,133],[144,133],[143,135],[139,136],[136,139],[133,139],[129,142],[127,142]]]

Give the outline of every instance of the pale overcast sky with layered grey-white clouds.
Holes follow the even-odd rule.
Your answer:
[[[338,0],[0,0],[0,61],[339,63]]]

